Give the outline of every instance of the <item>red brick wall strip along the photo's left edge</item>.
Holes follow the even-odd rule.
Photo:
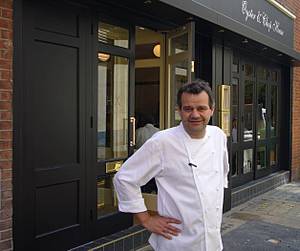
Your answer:
[[[12,6],[0,0],[0,250],[12,250]]]

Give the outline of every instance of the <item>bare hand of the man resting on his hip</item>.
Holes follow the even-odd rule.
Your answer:
[[[166,239],[171,240],[172,236],[177,236],[181,232],[180,229],[171,225],[171,223],[180,224],[180,220],[160,215],[150,216],[148,212],[137,213],[136,216],[144,228]]]

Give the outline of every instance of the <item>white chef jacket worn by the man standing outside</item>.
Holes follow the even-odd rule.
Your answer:
[[[174,224],[181,233],[172,240],[152,233],[149,243],[156,251],[223,249],[223,188],[229,171],[226,135],[218,127],[207,126],[194,159],[189,140],[182,124],[156,133],[114,178],[120,211],[147,211],[140,186],[155,177],[158,213],[182,222]]]

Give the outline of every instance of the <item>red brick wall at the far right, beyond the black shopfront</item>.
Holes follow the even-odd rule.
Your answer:
[[[296,15],[294,49],[300,52],[300,1],[281,0],[278,2]],[[300,180],[300,67],[294,67],[292,124],[292,180]]]

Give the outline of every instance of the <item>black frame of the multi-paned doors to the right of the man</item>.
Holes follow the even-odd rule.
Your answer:
[[[260,62],[255,61],[255,59],[245,53],[245,52],[240,52],[236,51],[235,55],[238,58],[239,61],[239,73],[233,73],[232,72],[232,78],[237,78],[239,80],[239,118],[241,121],[241,118],[244,116],[243,114],[243,102],[244,102],[244,85],[245,85],[245,74],[242,71],[243,65],[245,63],[250,62],[253,67],[254,67],[254,75],[251,79],[251,81],[254,81],[254,86],[253,86],[253,118],[252,118],[252,127],[253,127],[253,140],[250,142],[243,142],[243,122],[239,123],[238,126],[238,139],[239,142],[236,144],[231,143],[231,162],[232,162],[232,156],[234,153],[237,153],[237,168],[239,170],[239,173],[241,173],[241,168],[243,167],[243,151],[245,149],[253,149],[252,153],[252,161],[253,161],[253,168],[250,173],[243,174],[243,175],[238,175],[238,176],[231,176],[231,184],[232,187],[237,187],[240,185],[243,185],[249,181],[259,179],[261,177],[264,177],[268,174],[271,174],[272,172],[278,171],[280,169],[280,163],[279,163],[279,149],[280,149],[280,107],[281,107],[281,98],[280,98],[280,90],[281,90],[281,83],[282,83],[282,68],[280,65],[276,65],[270,62],[267,62],[265,60],[262,60]],[[269,80],[265,80],[266,83],[266,108],[267,108],[267,123],[266,123],[266,138],[264,140],[259,141],[257,139],[257,112],[258,112],[258,105],[257,105],[257,92],[258,92],[258,83],[260,82],[260,79],[258,78],[257,70],[259,67],[266,68],[268,70],[275,69],[278,73],[279,80],[276,83],[273,83]],[[270,105],[270,86],[276,85],[278,87],[277,89],[277,137],[270,137],[270,110],[271,110],[271,105]],[[270,145],[271,144],[277,144],[277,164],[275,166],[270,165]],[[266,148],[266,168],[264,169],[257,169],[257,149],[259,146],[265,146]],[[232,163],[231,163],[232,164]]]

